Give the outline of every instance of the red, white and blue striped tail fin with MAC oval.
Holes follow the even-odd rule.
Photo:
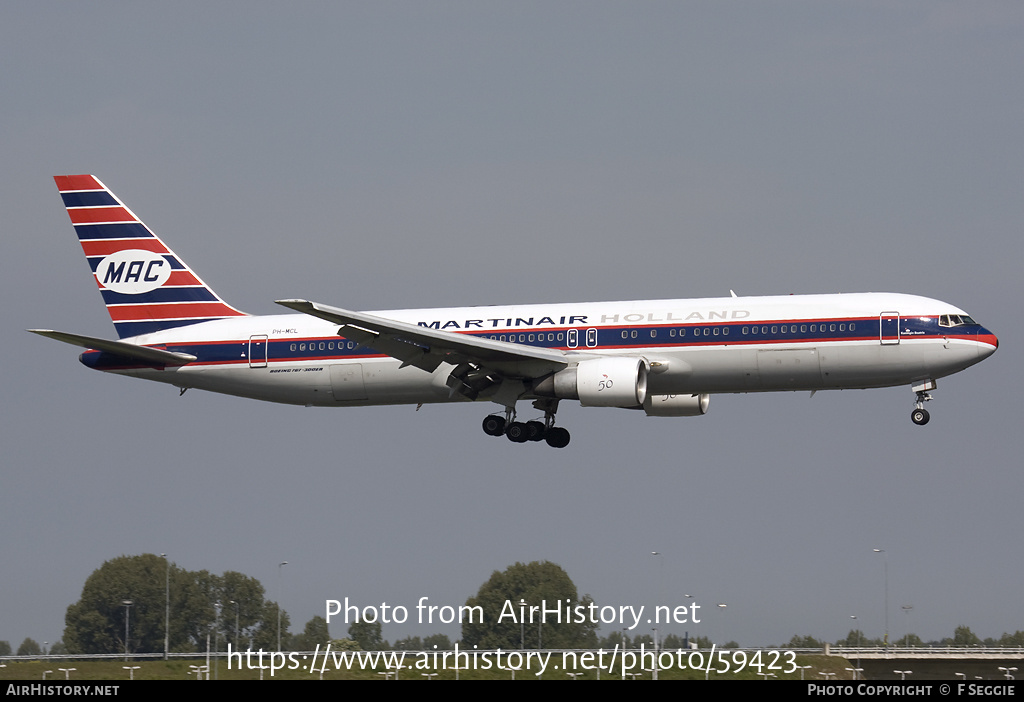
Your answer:
[[[91,175],[54,176],[118,337],[245,316]]]

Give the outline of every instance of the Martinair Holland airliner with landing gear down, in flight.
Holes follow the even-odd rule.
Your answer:
[[[224,302],[102,182],[55,176],[118,340],[28,330],[86,349],[90,368],[271,402],[490,401],[483,431],[569,443],[561,400],[697,416],[717,393],[910,385],[911,420],[940,378],[998,347],[964,310],[891,293],[638,300],[355,312]],[[540,418],[520,422],[528,401]]]

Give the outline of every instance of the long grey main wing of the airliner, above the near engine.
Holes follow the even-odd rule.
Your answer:
[[[433,372],[443,362],[470,366],[466,370],[475,374],[489,371],[503,378],[535,379],[561,370],[571,362],[567,354],[554,349],[441,332],[307,300],[276,302],[339,324],[339,336],[397,358],[402,367],[415,365]]]

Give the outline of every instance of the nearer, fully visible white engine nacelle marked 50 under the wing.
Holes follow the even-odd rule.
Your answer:
[[[640,407],[647,399],[647,361],[636,357],[581,361],[544,379],[534,392],[580,400],[585,407]]]

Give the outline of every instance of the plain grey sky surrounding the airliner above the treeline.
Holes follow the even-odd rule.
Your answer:
[[[693,594],[663,631],[777,645],[882,635],[883,547],[893,638],[906,604],[925,640],[1024,629],[1022,35],[1018,2],[5,3],[0,639],[55,641],[141,553],[299,627],[550,560],[601,605]],[[22,331],[114,337],[71,173],[251,313],[887,291],[1000,348],[925,428],[909,388],[563,403],[564,450],[485,436],[489,404],[178,398]]]

